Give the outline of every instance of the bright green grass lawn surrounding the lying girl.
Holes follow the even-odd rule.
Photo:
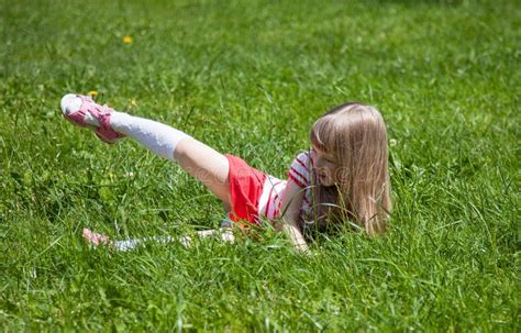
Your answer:
[[[520,331],[518,1],[0,4],[2,331]],[[323,112],[374,104],[390,231],[311,257],[269,232],[93,251],[82,227],[122,240],[223,218],[175,164],[62,118],[64,93],[93,90],[278,177]]]

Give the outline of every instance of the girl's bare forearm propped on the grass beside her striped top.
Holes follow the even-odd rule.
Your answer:
[[[293,180],[288,179],[288,185],[284,190],[281,210],[282,213],[282,232],[289,236],[291,245],[297,251],[308,252],[308,244],[300,231],[299,215],[302,206],[304,191]]]

